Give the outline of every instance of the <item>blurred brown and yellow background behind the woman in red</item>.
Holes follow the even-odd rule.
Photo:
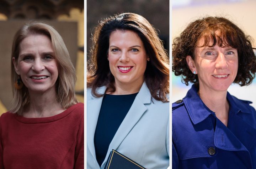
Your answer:
[[[12,100],[12,40],[31,20],[52,25],[63,37],[76,68],[76,97],[84,102],[84,1],[0,0],[0,115],[10,109]]]

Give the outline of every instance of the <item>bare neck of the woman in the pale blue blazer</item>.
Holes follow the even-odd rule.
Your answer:
[[[138,93],[140,88],[142,87],[142,84],[144,82],[143,80],[136,81],[135,83],[131,84],[125,84],[125,83],[119,83],[115,82],[114,86],[116,87],[116,91],[114,91],[111,94],[115,95],[121,95],[121,94],[133,94],[133,93]]]

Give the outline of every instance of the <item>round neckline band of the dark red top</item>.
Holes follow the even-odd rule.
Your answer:
[[[27,118],[20,115],[17,115],[17,113],[14,114],[16,120],[22,123],[48,123],[53,122],[56,120],[59,120],[71,113],[76,107],[78,107],[82,103],[77,103],[75,105],[70,106],[68,109],[64,110],[63,112],[59,113],[58,115],[50,116],[50,117],[37,117],[37,118]]]

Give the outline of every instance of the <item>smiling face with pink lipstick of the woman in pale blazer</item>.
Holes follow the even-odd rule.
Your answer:
[[[130,30],[116,30],[110,35],[108,58],[110,71],[118,84],[142,84],[147,56],[142,40]]]

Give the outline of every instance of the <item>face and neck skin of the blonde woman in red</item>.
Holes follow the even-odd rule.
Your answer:
[[[12,58],[15,71],[21,76],[28,88],[30,104],[24,108],[23,116],[27,118],[50,117],[63,112],[56,100],[55,83],[58,78],[57,62],[50,39],[45,35],[35,34],[20,43],[17,59]],[[47,77],[33,79],[33,77]]]

